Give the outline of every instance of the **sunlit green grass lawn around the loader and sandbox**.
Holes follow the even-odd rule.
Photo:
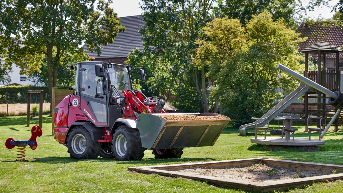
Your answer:
[[[254,130],[248,129],[248,136],[239,136],[238,128],[227,127],[214,146],[185,148],[179,159],[154,159],[152,151],[146,150],[140,161],[116,161],[101,157],[95,160],[70,158],[67,147],[51,135],[51,117],[44,115],[43,122],[43,136],[37,138],[37,149],[27,146],[27,161],[16,162],[16,147],[7,149],[5,141],[9,137],[29,139],[34,124],[26,127],[26,116],[0,117],[0,192],[245,192],[179,177],[132,172],[127,168],[256,157],[343,165],[340,129],[339,132],[330,129],[323,138],[326,144],[314,152],[295,148],[269,151],[268,146],[250,143]],[[301,123],[294,127],[299,129],[296,137],[308,137]],[[262,137],[262,133],[259,136]],[[318,133],[311,134],[311,138],[318,139]],[[343,192],[343,181],[317,183],[289,192]]]

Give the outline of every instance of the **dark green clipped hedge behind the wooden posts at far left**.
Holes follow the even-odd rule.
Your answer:
[[[48,87],[24,85],[0,87],[0,103],[27,103],[28,90],[43,90],[44,102],[50,102]],[[31,102],[36,103],[36,101],[39,103],[39,94],[31,94]]]

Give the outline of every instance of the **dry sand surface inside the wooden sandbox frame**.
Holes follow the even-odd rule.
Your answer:
[[[303,168],[303,167],[282,167],[275,166],[270,163],[265,163],[263,161],[258,161],[251,164],[250,166],[242,167],[223,167],[223,168],[189,168],[179,171],[188,174],[199,174],[205,176],[212,176],[218,178],[229,178],[235,180],[247,180],[252,182],[261,181],[277,181],[295,178],[305,178],[319,175],[327,175],[338,173],[336,170],[324,170],[316,168]]]

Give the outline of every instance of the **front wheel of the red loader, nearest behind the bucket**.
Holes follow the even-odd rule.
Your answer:
[[[141,160],[145,148],[142,147],[139,130],[126,125],[119,126],[113,134],[113,153],[117,160]]]

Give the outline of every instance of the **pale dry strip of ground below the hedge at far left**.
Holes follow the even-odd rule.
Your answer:
[[[31,104],[31,107],[36,104]],[[38,104],[39,105],[39,104]],[[43,111],[50,110],[50,103],[43,103]],[[26,115],[27,112],[27,103],[15,103],[8,104],[8,113],[9,115]],[[0,104],[0,115],[7,114],[6,104]]]

